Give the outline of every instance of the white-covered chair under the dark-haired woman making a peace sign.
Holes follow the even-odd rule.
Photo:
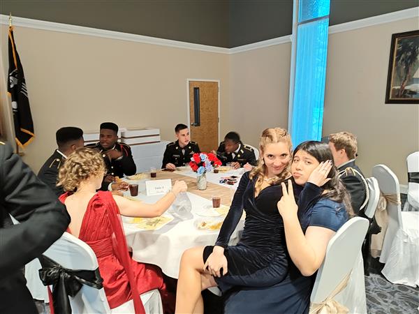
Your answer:
[[[330,239],[325,260],[318,269],[311,292],[310,310],[327,299],[335,299],[346,306],[349,313],[367,312],[361,246],[368,226],[369,221],[366,218],[351,218]],[[347,277],[348,284],[339,289]],[[341,310],[337,313],[341,313]]]

